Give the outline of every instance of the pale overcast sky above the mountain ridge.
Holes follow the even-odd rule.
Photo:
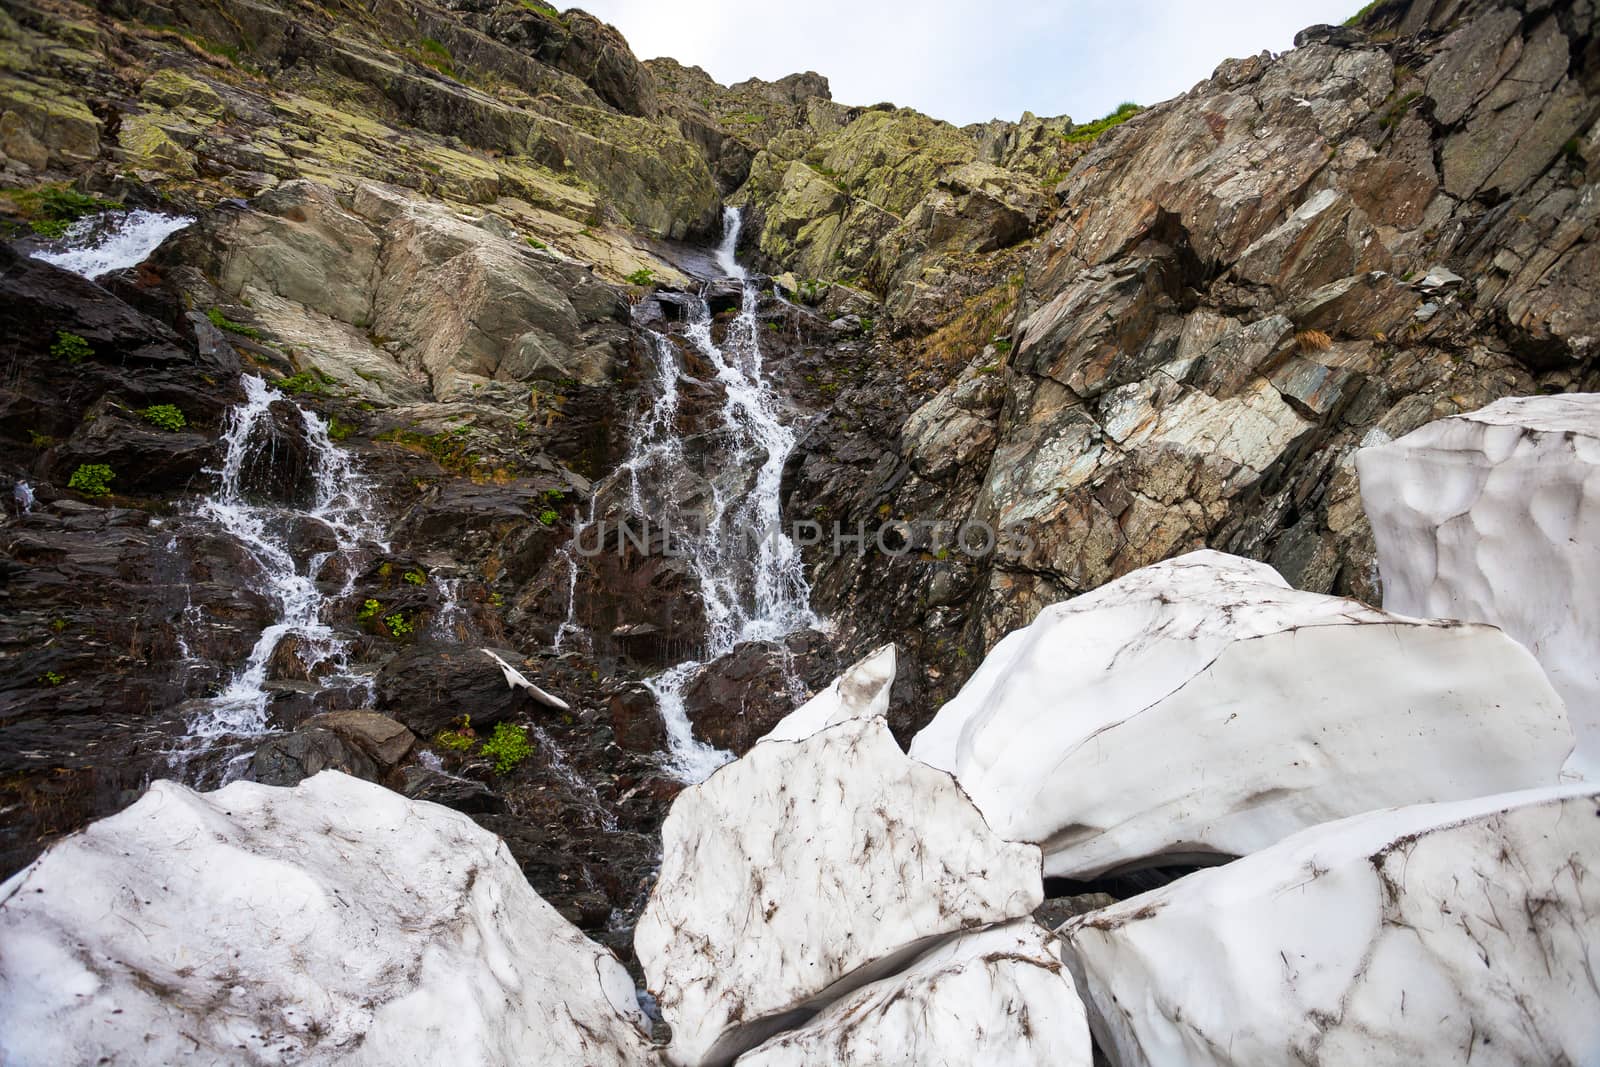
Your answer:
[[[568,6],[573,0],[558,3]],[[891,101],[957,125],[1154,104],[1230,56],[1283,51],[1363,0],[578,0],[634,51],[723,85],[827,75],[845,104]]]

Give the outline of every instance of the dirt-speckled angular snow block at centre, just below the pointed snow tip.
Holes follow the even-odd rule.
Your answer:
[[[634,949],[675,1064],[726,1064],[1043,899],[1038,849],[1000,840],[882,718],[755,745],[683,790],[661,833]]]

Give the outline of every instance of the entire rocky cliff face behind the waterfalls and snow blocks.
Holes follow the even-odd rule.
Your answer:
[[[365,472],[381,537],[282,541],[341,560],[309,577],[371,685],[285,646],[272,749],[190,777],[342,766],[472,811],[626,952],[680,787],[638,681],[696,653],[706,605],[669,541],[581,571],[563,547],[622,509],[658,344],[688,454],[725,448],[688,336],[723,203],[770,275],[784,515],[816,525],[834,629],[698,672],[701,739],[749,747],[883,641],[906,739],[1040,608],[1187,549],[1376,603],[1360,443],[1597,384],[1592,22],[1387,0],[1120,122],[954,128],[816,74],[640,62],[542,3],[11,5],[0,475],[37,502],[0,526],[5,867],[182,773],[195,707],[278,617],[251,553],[192,522],[254,374],[285,398],[251,499],[315,493],[296,408]],[[86,195],[197,221],[98,285],[27,259]],[[725,339],[741,296],[706,299]],[[144,414],[165,405],[181,429]],[[314,718],[363,709],[414,747]],[[501,721],[539,728],[531,755],[482,755]]]

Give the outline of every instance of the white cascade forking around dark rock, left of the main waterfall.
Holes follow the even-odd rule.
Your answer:
[[[294,654],[307,677],[371,688],[370,678],[347,673],[346,643],[322,619],[328,597],[317,584],[317,574],[334,555],[350,563],[360,552],[387,550],[373,525],[373,502],[366,482],[350,453],[328,437],[328,424],[298,405],[294,410],[304,427],[312,475],[312,501],[306,507],[259,502],[246,486],[246,472],[254,459],[272,450],[275,434],[272,405],[286,397],[254,374],[245,374],[245,402],[227,416],[222,430],[222,466],[218,488],[195,509],[200,518],[214,522],[250,553],[256,565],[256,589],[277,608],[277,622],[256,638],[250,659],[240,667],[221,694],[206,702],[205,712],[189,725],[189,753],[203,750],[205,742],[227,736],[254,736],[267,728],[267,669],[285,640],[294,638]],[[290,537],[298,523],[320,523],[336,545],[312,552],[304,561],[294,558]],[[344,568],[347,595],[355,581],[355,566]],[[198,742],[198,744],[194,744]]]

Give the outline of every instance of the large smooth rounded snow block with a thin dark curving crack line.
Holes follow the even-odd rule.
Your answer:
[[[1045,873],[1240,856],[1373,808],[1554,785],[1525,648],[1194,552],[1045,608],[917,734]]]

